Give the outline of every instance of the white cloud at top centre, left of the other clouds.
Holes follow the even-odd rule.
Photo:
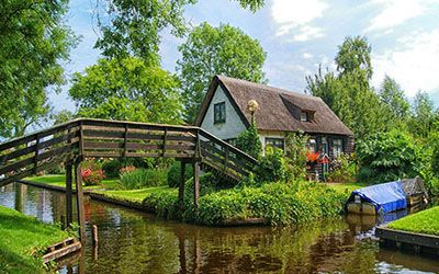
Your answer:
[[[323,15],[328,4],[322,0],[273,0],[271,15],[279,25],[278,36],[299,32],[293,41],[304,42],[324,36],[323,30],[309,25],[312,21]]]

